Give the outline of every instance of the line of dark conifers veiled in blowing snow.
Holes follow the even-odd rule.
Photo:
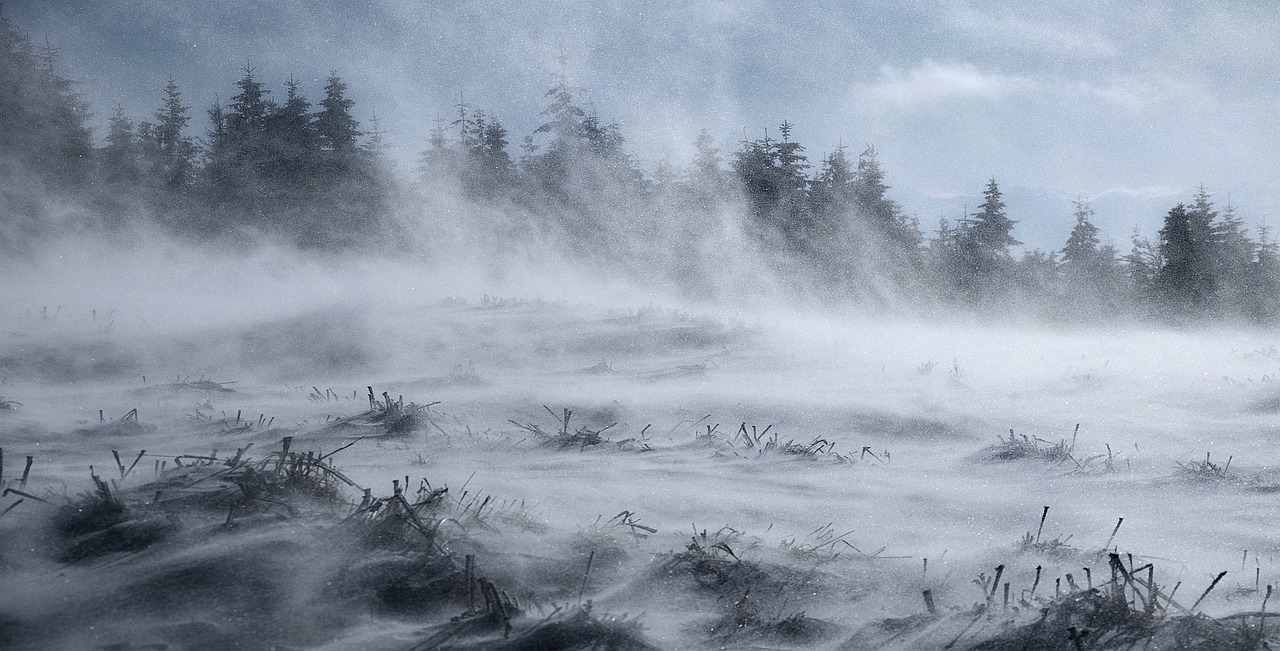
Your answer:
[[[1061,249],[1015,255],[1019,220],[996,179],[975,211],[941,219],[925,237],[890,198],[874,147],[841,145],[812,161],[786,122],[726,153],[704,130],[685,169],[663,160],[646,171],[621,127],[602,120],[563,72],[518,145],[497,115],[460,98],[453,115],[435,119],[412,179],[394,173],[387,134],[356,118],[337,73],[312,102],[296,79],[270,84],[246,64],[225,102],[204,110],[170,79],[152,113],[114,107],[95,145],[90,107],[58,73],[58,50],[0,15],[0,246],[9,249],[45,230],[41,194],[77,197],[99,226],[142,212],[184,237],[323,249],[402,246],[397,233],[430,229],[435,212],[411,223],[403,206],[438,207],[447,196],[492,208],[465,225],[499,248],[539,233],[602,272],[639,269],[691,295],[714,295],[716,269],[746,263],[819,301],[1060,320],[1280,320],[1280,247],[1204,188],[1165,215],[1155,242],[1135,231],[1126,252],[1103,244],[1079,200]],[[740,260],[730,233],[754,255]]]

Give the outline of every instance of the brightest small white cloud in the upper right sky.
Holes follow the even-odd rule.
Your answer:
[[[879,79],[861,95],[896,106],[924,106],[946,100],[996,100],[1036,88],[1025,77],[984,73],[970,64],[940,64],[925,59],[909,70],[882,68]]]

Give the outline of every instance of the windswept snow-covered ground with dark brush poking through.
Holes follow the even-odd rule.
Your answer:
[[[1280,579],[1274,333],[385,298],[13,310],[0,646],[970,647],[1107,551],[1156,615]]]

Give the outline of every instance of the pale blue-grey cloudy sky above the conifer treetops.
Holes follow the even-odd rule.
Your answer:
[[[1006,189],[1015,235],[1061,248],[1071,203],[1105,235],[1155,234],[1203,183],[1251,223],[1280,215],[1280,9],[1270,1],[8,0],[105,125],[169,77],[196,106],[234,95],[251,63],[312,102],[335,70],[376,111],[404,170],[458,97],[516,143],[538,125],[561,52],[602,119],[649,169],[707,128],[727,155],[783,119],[812,161],[874,143],[892,194],[925,231]]]

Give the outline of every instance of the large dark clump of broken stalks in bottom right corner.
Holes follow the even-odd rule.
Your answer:
[[[1023,549],[1055,555],[1061,545],[1043,541],[1044,509],[1041,528],[1027,535]],[[1107,541],[1110,547],[1121,518]],[[1064,541],[1065,544],[1065,541]],[[1135,561],[1133,554],[1103,551],[1079,556],[1057,554],[1059,560],[1084,560],[1083,576],[1066,572],[1050,577],[1043,565],[1034,568],[1029,587],[1018,588],[1012,567],[1001,564],[995,572],[978,573],[972,583],[980,601],[972,608],[940,605],[932,590],[923,592],[925,613],[884,620],[859,631],[851,642],[874,647],[888,641],[913,639],[919,647],[972,650],[1121,650],[1121,648],[1270,648],[1267,604],[1272,587],[1257,586],[1249,592],[1261,596],[1257,611],[1213,618],[1198,609],[1220,584],[1226,572],[1213,577],[1190,605],[1175,597],[1181,582],[1161,583],[1153,563]],[[1103,563],[1098,568],[1096,563]],[[1101,569],[1101,572],[1100,572]],[[1052,572],[1052,570],[1048,570]],[[1029,574],[1029,573],[1028,573]],[[1021,574],[1027,577],[1028,574]],[[1100,581],[1098,576],[1110,574]]]

